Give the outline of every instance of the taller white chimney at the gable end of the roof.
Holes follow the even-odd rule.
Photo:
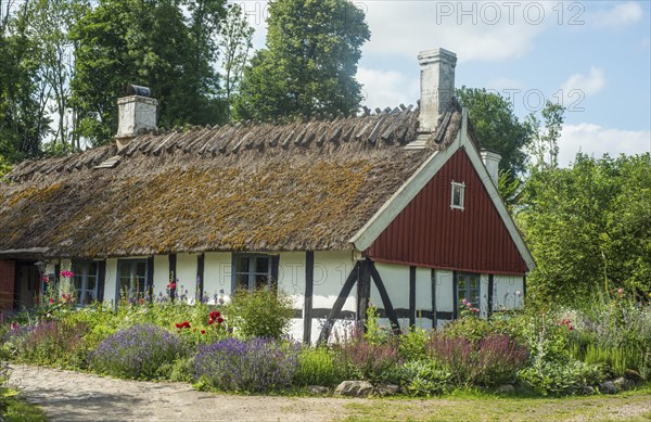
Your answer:
[[[455,97],[457,54],[444,49],[421,51],[418,62],[421,66],[419,131],[431,132]]]

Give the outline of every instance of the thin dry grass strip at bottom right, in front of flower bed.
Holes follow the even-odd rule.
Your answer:
[[[346,421],[651,421],[651,385],[615,396],[520,398],[460,394],[345,406]]]

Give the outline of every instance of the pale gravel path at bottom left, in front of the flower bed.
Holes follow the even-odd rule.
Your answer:
[[[184,383],[153,383],[12,365],[10,386],[52,421],[328,421],[345,418],[342,398],[234,396]]]

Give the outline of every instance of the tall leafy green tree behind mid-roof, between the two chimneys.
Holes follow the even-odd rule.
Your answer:
[[[235,117],[354,113],[361,102],[357,62],[370,39],[363,12],[347,0],[277,0],[268,10],[267,48],[244,71]]]

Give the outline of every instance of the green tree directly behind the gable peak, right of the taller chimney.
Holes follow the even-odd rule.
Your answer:
[[[526,148],[533,136],[527,123],[520,123],[513,105],[498,93],[486,89],[457,89],[459,103],[468,108],[470,119],[482,141],[482,148],[501,154],[499,168],[516,178],[525,170]]]

